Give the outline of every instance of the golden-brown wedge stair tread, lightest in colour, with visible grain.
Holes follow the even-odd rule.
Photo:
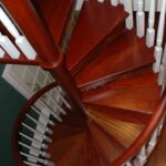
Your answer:
[[[101,113],[89,112],[89,117],[126,148],[132,145],[144,128],[144,125],[117,121]]]

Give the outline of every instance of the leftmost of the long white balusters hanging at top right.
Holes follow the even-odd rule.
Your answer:
[[[126,28],[128,30],[133,29],[133,1],[132,0],[124,0],[124,9],[126,12],[129,13],[129,15],[126,18]]]

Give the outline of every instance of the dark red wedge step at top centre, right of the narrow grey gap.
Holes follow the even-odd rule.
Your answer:
[[[112,7],[108,0],[104,3],[84,1],[66,49],[66,63],[73,74],[113,41],[126,17],[123,6]]]

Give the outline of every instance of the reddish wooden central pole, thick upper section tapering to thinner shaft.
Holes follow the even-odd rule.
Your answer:
[[[45,21],[39,15],[30,0],[0,0],[2,7],[33,45],[43,69],[51,72],[63,87],[73,107],[85,117],[84,105],[71,73],[68,71],[64,55],[49,31]]]

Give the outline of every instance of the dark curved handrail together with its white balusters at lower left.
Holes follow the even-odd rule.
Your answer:
[[[71,110],[71,105],[65,96],[61,94],[59,101],[61,107],[59,105],[53,110],[46,104],[43,104],[41,108],[35,107],[43,95],[51,93],[54,89],[58,90],[55,82],[37,92],[27,102],[18,116],[12,134],[12,153],[17,166],[22,166],[23,164],[30,166],[54,165],[50,160],[50,154],[46,152],[49,144],[52,143],[52,126],[62,122],[61,115],[66,114]],[[55,95],[59,95],[59,93]]]

